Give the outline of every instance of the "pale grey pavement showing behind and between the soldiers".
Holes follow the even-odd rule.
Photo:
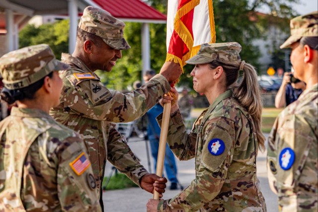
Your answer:
[[[267,137],[267,135],[266,135]],[[141,163],[149,170],[146,154],[146,142],[140,138],[130,138],[128,144]],[[153,164],[152,158],[151,164]],[[194,159],[188,161],[177,161],[178,180],[186,188],[191,180],[195,178]],[[152,165],[153,166],[153,165]],[[151,167],[154,172],[154,168]],[[111,164],[107,162],[105,176],[111,172]],[[260,180],[261,191],[264,195],[267,211],[278,212],[277,196],[270,190],[267,180],[266,171],[266,152],[260,152],[257,158],[257,176]],[[178,194],[179,190],[170,191],[167,183],[167,189],[163,194],[163,199],[170,199]],[[146,203],[153,195],[142,190],[141,188],[129,188],[123,190],[113,190],[103,192],[103,201],[105,212],[146,212]]]

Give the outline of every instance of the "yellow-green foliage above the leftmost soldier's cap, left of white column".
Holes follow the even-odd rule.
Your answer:
[[[27,25],[19,32],[19,48],[46,43],[60,60],[62,52],[69,48],[69,20],[61,20],[54,24],[43,24],[39,27]]]

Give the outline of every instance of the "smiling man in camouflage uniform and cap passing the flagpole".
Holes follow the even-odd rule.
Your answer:
[[[121,50],[130,48],[123,37],[124,26],[105,10],[84,9],[76,49],[72,55],[62,54],[62,61],[72,68],[62,73],[61,104],[50,112],[58,122],[84,136],[99,193],[106,159],[148,192],[152,192],[154,180],[163,183],[164,179],[148,174],[110,122],[130,122],[144,115],[170,90],[169,82],[181,74],[178,65],[165,63],[160,74],[139,89],[127,94],[110,92],[94,71],[111,71],[122,57]]]

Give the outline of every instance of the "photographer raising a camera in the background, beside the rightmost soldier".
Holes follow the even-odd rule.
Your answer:
[[[282,84],[275,97],[275,107],[282,108],[293,103],[305,89],[305,82],[295,78],[291,72],[285,72]]]

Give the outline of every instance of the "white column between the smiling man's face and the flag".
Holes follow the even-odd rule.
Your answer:
[[[142,76],[147,70],[150,69],[150,35],[149,35],[149,23],[143,23],[141,30],[141,55],[143,62]],[[143,78],[143,77],[142,77]]]

